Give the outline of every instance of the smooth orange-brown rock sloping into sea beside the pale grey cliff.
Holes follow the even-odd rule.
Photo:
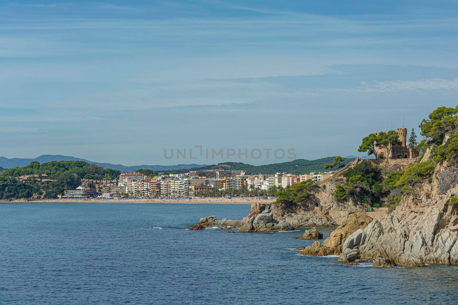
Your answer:
[[[311,246],[305,247],[300,254],[312,256],[340,254],[347,237],[358,229],[367,227],[372,220],[370,216],[360,212],[349,214],[348,218],[322,244],[319,241],[315,241]]]

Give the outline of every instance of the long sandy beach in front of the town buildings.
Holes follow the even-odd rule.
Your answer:
[[[0,203],[30,203],[30,202],[132,202],[132,203],[235,203],[235,204],[251,204],[251,203],[273,203],[275,199],[264,199],[264,198],[199,198],[199,199],[27,199],[27,200],[13,200],[13,201],[0,201]]]

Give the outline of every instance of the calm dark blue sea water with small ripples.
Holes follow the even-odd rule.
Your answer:
[[[458,268],[347,266],[305,229],[185,230],[244,204],[0,204],[1,304],[452,304]],[[157,228],[157,229],[153,229]],[[158,229],[162,228],[162,229]],[[324,237],[332,229],[322,229]]]

